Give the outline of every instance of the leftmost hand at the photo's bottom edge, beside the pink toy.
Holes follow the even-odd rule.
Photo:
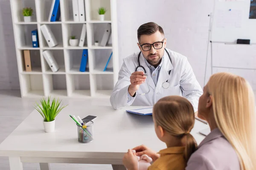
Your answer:
[[[138,170],[138,158],[135,153],[131,151],[131,149],[128,150],[127,153],[125,153],[125,156],[123,157],[123,164],[128,170]]]

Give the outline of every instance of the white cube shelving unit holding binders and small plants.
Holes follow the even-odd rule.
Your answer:
[[[84,0],[85,21],[73,21],[72,0],[61,0],[61,21],[48,22],[52,0],[10,0],[15,37],[15,49],[22,97],[109,97],[118,79],[118,37],[116,0]],[[33,8],[32,22],[23,21],[22,9]],[[98,20],[99,7],[107,9],[105,21]],[[69,45],[70,36],[80,38],[82,24],[86,24],[84,47]],[[58,45],[50,48],[40,26],[47,24]],[[105,47],[95,46],[102,29],[111,24],[111,40]],[[38,29],[39,48],[32,47],[31,31]],[[88,49],[85,72],[80,72],[83,49]],[[23,50],[30,50],[32,71],[25,70]],[[60,69],[52,72],[42,52],[51,50]],[[108,70],[103,71],[113,51]]]

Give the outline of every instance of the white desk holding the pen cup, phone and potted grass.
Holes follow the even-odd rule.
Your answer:
[[[23,170],[22,162],[39,162],[41,170],[48,170],[48,163],[122,164],[122,157],[129,148],[140,144],[159,151],[165,144],[157,139],[152,116],[126,113],[127,107],[113,110],[110,106],[71,104],[56,117],[55,132],[45,133],[43,120],[33,111],[1,144],[0,156],[8,156],[11,170]],[[95,115],[94,140],[88,144],[78,142],[76,123],[69,115],[84,118]],[[199,130],[209,127],[195,121],[192,135],[200,143],[205,136]]]

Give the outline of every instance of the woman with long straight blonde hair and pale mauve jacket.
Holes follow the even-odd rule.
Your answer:
[[[256,114],[248,82],[230,73],[210,77],[198,116],[211,133],[190,157],[186,170],[256,170]]]

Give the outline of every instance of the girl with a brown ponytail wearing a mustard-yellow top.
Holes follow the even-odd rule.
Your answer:
[[[125,167],[128,170],[142,170],[137,156],[146,154],[154,161],[148,170],[184,170],[189,157],[197,148],[190,134],[195,123],[191,103],[181,96],[166,96],[154,105],[153,120],[157,137],[166,143],[167,148],[159,153],[143,145],[133,149],[137,153],[128,150],[123,158]]]

